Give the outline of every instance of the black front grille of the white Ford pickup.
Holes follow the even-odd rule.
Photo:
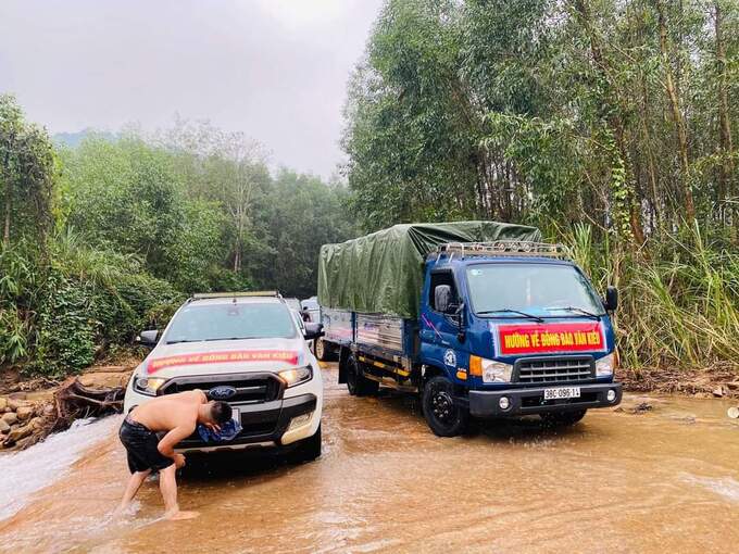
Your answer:
[[[236,394],[224,399],[229,403],[261,403],[277,400],[283,394],[283,381],[274,374],[198,375],[175,377],[160,389],[160,394],[172,394],[200,389],[205,394],[214,387],[227,386],[236,389]]]

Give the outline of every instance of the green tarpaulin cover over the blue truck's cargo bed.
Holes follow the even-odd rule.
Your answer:
[[[426,254],[447,242],[541,240],[535,227],[496,222],[396,225],[321,247],[318,303],[364,314],[415,318]]]

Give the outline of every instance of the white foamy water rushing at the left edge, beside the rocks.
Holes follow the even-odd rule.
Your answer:
[[[77,419],[66,431],[29,449],[0,455],[0,519],[20,511],[39,489],[62,477],[92,444],[108,438],[117,417]]]

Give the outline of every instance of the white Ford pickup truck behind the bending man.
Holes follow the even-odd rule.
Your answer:
[[[200,389],[234,410],[241,431],[205,442],[196,431],[177,452],[279,450],[299,461],[321,455],[321,368],[306,341],[320,324],[300,328],[276,292],[196,294],[163,332],[143,331],[152,348],[128,382],[124,411],[154,396]]]

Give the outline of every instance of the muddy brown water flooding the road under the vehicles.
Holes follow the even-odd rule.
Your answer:
[[[324,369],[324,454],[190,471],[162,521],[155,482],[121,522],[117,421],[0,521],[3,552],[736,552],[731,402],[627,395],[575,427],[538,420],[434,437],[404,396],[351,398]],[[653,410],[631,414],[642,401]],[[36,448],[36,446],[35,446]],[[49,455],[49,454],[45,454]],[[7,476],[0,475],[0,479]]]

